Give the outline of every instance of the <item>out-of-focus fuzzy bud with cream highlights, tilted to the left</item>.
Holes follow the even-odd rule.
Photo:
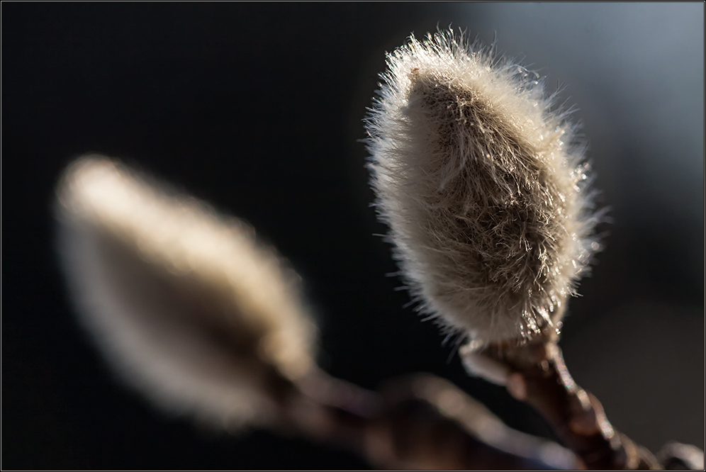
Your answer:
[[[72,298],[125,381],[218,426],[276,423],[316,330],[252,228],[101,156],[67,169],[58,202]]]

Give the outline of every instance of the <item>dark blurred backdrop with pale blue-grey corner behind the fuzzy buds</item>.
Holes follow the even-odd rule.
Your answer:
[[[101,152],[250,221],[306,282],[320,364],[376,388],[428,371],[549,436],[469,378],[408,303],[369,204],[362,118],[386,51],[461,28],[564,86],[605,250],[561,342],[612,424],[704,447],[704,5],[2,4],[2,467],[369,468],[345,451],[164,416],[111,373],[57,265],[54,186]]]

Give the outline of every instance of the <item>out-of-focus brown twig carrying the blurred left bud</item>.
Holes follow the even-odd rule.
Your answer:
[[[373,393],[319,371],[288,403],[291,427],[388,469],[536,470],[579,465],[558,444],[510,429],[442,378],[418,374]],[[296,405],[293,408],[293,405]]]

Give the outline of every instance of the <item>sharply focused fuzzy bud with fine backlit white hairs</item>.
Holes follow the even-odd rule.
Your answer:
[[[597,217],[568,113],[452,32],[388,54],[366,128],[381,220],[418,309],[477,342],[558,329]]]

